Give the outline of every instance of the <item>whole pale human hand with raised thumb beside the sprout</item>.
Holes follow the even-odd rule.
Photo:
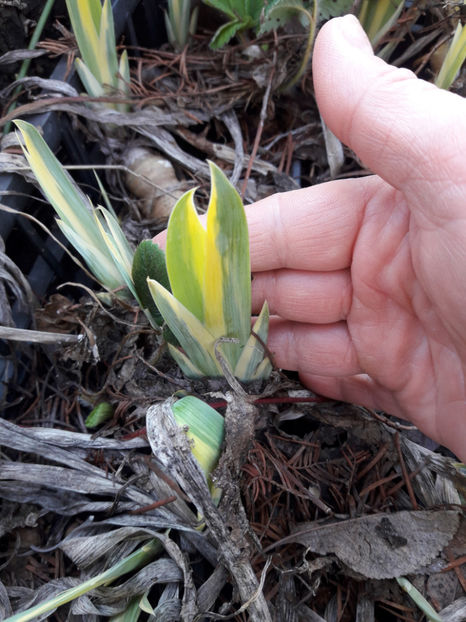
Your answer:
[[[375,175],[247,208],[253,310],[322,395],[410,420],[466,460],[466,101],[374,57],[352,16],[317,37],[321,114]]]

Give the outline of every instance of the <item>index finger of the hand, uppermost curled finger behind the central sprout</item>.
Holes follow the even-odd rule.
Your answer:
[[[365,207],[381,187],[373,176],[345,179],[248,205],[251,270],[348,268]]]

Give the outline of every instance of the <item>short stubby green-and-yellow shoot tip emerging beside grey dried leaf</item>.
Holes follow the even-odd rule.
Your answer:
[[[220,457],[224,439],[224,419],[202,400],[188,395],[172,405],[173,416],[180,427],[187,426],[192,452],[206,477],[212,473]]]

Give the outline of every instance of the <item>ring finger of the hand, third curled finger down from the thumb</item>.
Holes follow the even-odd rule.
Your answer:
[[[283,369],[334,377],[361,373],[345,322],[319,326],[271,318],[267,345]]]

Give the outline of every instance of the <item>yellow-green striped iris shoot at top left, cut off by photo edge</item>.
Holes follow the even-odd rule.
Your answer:
[[[129,64],[126,50],[118,60],[110,0],[66,0],[81,59],[76,69],[87,93],[92,97],[129,92]],[[126,104],[113,105],[118,110]]]

